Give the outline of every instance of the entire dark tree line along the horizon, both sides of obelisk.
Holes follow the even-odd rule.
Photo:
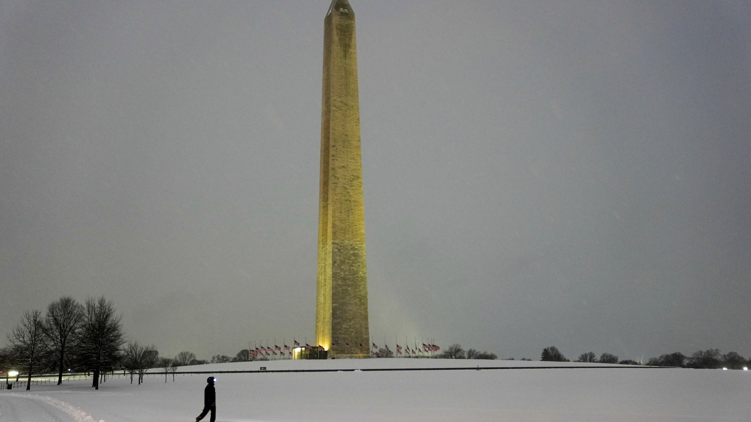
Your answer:
[[[375,357],[393,357],[388,349],[379,349]],[[474,348],[464,350],[458,343],[436,354],[442,359],[490,359],[498,356]],[[116,314],[111,300],[104,297],[89,297],[81,304],[72,297],[61,297],[47,306],[46,314],[31,310],[23,313],[21,321],[8,334],[8,345],[0,348],[0,370],[6,376],[9,369],[17,369],[27,377],[26,390],[31,388],[32,375],[56,372],[57,384],[62,384],[62,377],[68,371],[92,373],[92,387],[96,390],[99,383],[107,381],[107,374],[122,370],[134,376],[137,383],[143,381],[148,369],[164,369],[172,373],[173,380],[178,366],[201,365],[205,363],[244,362],[251,360],[249,349],[243,349],[234,357],[216,354],[211,360],[196,358],[190,351],[181,351],[175,357],[160,356],[154,345],[143,345],[137,341],[128,341],[121,324],[121,316]],[[513,360],[513,358],[510,358]],[[264,358],[255,360],[265,360]],[[530,360],[523,358],[522,360]],[[544,348],[543,361],[569,362],[555,346]],[[627,365],[676,366],[682,368],[722,368],[743,369],[749,366],[740,354],[730,351],[720,354],[719,349],[696,351],[686,356],[680,352],[662,354],[653,357],[647,363],[635,360],[619,360],[610,353],[599,357],[592,351],[580,354],[575,362],[620,363]],[[17,375],[17,379],[20,375]]]

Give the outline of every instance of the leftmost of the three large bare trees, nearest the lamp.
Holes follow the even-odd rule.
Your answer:
[[[32,373],[41,366],[47,354],[47,338],[42,329],[42,313],[39,311],[23,312],[21,322],[8,335],[15,360],[29,376],[26,390],[32,388]]]

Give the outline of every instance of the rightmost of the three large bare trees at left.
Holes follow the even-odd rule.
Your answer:
[[[125,342],[121,317],[115,315],[115,307],[109,300],[100,297],[86,299],[83,323],[80,330],[80,353],[88,369],[94,372],[92,387],[99,389],[99,375],[109,369],[118,359],[119,348]]]

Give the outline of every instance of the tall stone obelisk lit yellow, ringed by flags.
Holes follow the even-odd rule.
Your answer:
[[[360,100],[347,0],[333,0],[324,19],[323,74],[315,342],[328,357],[368,357]]]

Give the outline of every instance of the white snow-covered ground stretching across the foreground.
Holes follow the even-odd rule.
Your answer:
[[[180,370],[550,366],[520,360],[277,360]],[[217,420],[749,421],[751,371],[603,368],[216,375]],[[595,364],[596,365],[596,364]],[[617,365],[614,365],[617,366]],[[147,376],[144,384],[91,379],[30,392],[0,391],[0,422],[193,420],[207,375]],[[67,407],[66,407],[67,406]],[[66,419],[68,418],[68,419]],[[208,420],[205,419],[205,420]]]

